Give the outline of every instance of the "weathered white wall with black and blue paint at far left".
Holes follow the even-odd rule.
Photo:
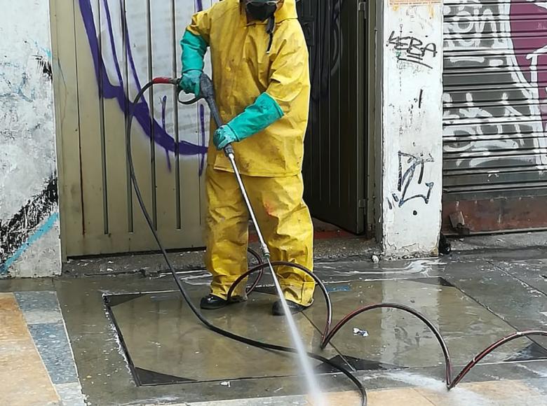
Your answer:
[[[0,277],[60,273],[48,1],[0,15]]]

